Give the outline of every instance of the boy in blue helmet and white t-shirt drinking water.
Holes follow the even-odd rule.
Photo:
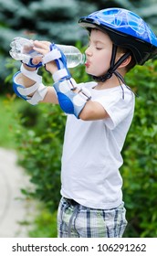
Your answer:
[[[44,57],[22,64],[16,94],[31,104],[57,103],[68,113],[61,167],[58,237],[118,238],[127,225],[122,201],[120,155],[134,112],[134,94],[124,76],[157,53],[157,38],[141,17],[110,8],[81,17],[89,30],[86,72],[94,82],[77,84],[55,44],[35,41]],[[37,67],[55,81],[45,87]]]

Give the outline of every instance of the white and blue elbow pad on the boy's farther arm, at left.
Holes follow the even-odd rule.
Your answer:
[[[34,80],[35,84],[26,88],[21,84],[21,74]],[[43,101],[47,94],[47,87],[42,83],[42,77],[37,75],[37,70],[29,71],[23,65],[21,65],[21,71],[17,72],[13,78],[13,89],[18,97],[32,105],[37,105],[39,101]],[[29,96],[32,93],[34,93],[33,96]]]

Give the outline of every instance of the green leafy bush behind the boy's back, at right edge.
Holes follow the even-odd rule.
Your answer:
[[[126,236],[157,237],[157,61],[132,69],[126,80],[139,95],[122,151]]]

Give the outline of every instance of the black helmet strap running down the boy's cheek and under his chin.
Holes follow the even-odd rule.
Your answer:
[[[115,59],[116,59],[116,53],[117,53],[117,46],[115,44],[113,44],[113,47],[112,47],[112,54],[111,54],[111,59],[110,59],[110,69],[108,69],[107,73],[104,74],[103,76],[100,76],[100,77],[96,77],[96,76],[93,76],[93,79],[94,80],[97,80],[97,81],[105,81],[105,80],[109,80],[112,76],[112,74],[115,74],[116,77],[122,81],[122,83],[125,83],[124,82],[124,79],[123,77],[120,75],[120,73],[118,71],[116,71],[116,69],[119,68],[120,64],[125,60],[127,59],[130,55],[131,55],[131,52],[126,52],[123,56],[120,57],[120,59],[115,63]]]

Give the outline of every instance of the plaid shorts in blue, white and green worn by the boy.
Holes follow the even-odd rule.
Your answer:
[[[120,238],[127,226],[123,203],[118,208],[86,208],[61,198],[58,207],[58,238]]]

